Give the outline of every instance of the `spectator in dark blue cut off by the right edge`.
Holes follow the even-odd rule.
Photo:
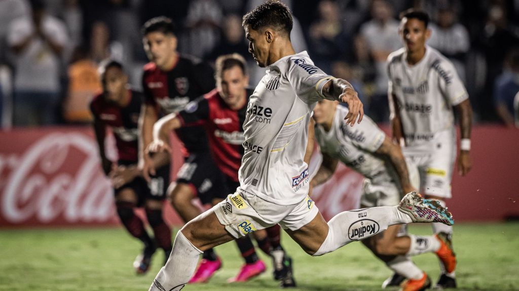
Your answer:
[[[519,49],[509,55],[510,67],[496,79],[494,86],[494,106],[501,121],[514,127],[514,98],[519,92]]]

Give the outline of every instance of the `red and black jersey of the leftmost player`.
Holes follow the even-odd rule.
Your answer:
[[[138,161],[138,124],[142,103],[142,93],[133,90],[130,90],[130,100],[125,107],[107,101],[103,93],[96,95],[90,103],[93,118],[112,128],[119,161]]]

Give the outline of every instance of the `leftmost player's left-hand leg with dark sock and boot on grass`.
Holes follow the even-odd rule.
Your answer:
[[[143,221],[133,212],[133,209],[138,205],[138,196],[135,193],[135,190],[139,189],[138,183],[139,181],[134,180],[115,190],[115,205],[122,225],[125,226],[134,238],[139,239],[144,245],[142,254],[137,256],[133,262],[135,271],[141,274],[149,269],[151,258],[157,247],[144,228]]]

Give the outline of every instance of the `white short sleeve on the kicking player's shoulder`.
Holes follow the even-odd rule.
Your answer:
[[[325,99],[322,94],[323,86],[334,79],[311,61],[298,56],[290,59],[288,78],[297,96],[307,104]]]

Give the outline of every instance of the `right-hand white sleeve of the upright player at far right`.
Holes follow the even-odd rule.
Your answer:
[[[433,68],[438,74],[440,89],[450,105],[456,106],[469,98],[465,85],[461,82],[454,65],[446,60],[436,61]]]

